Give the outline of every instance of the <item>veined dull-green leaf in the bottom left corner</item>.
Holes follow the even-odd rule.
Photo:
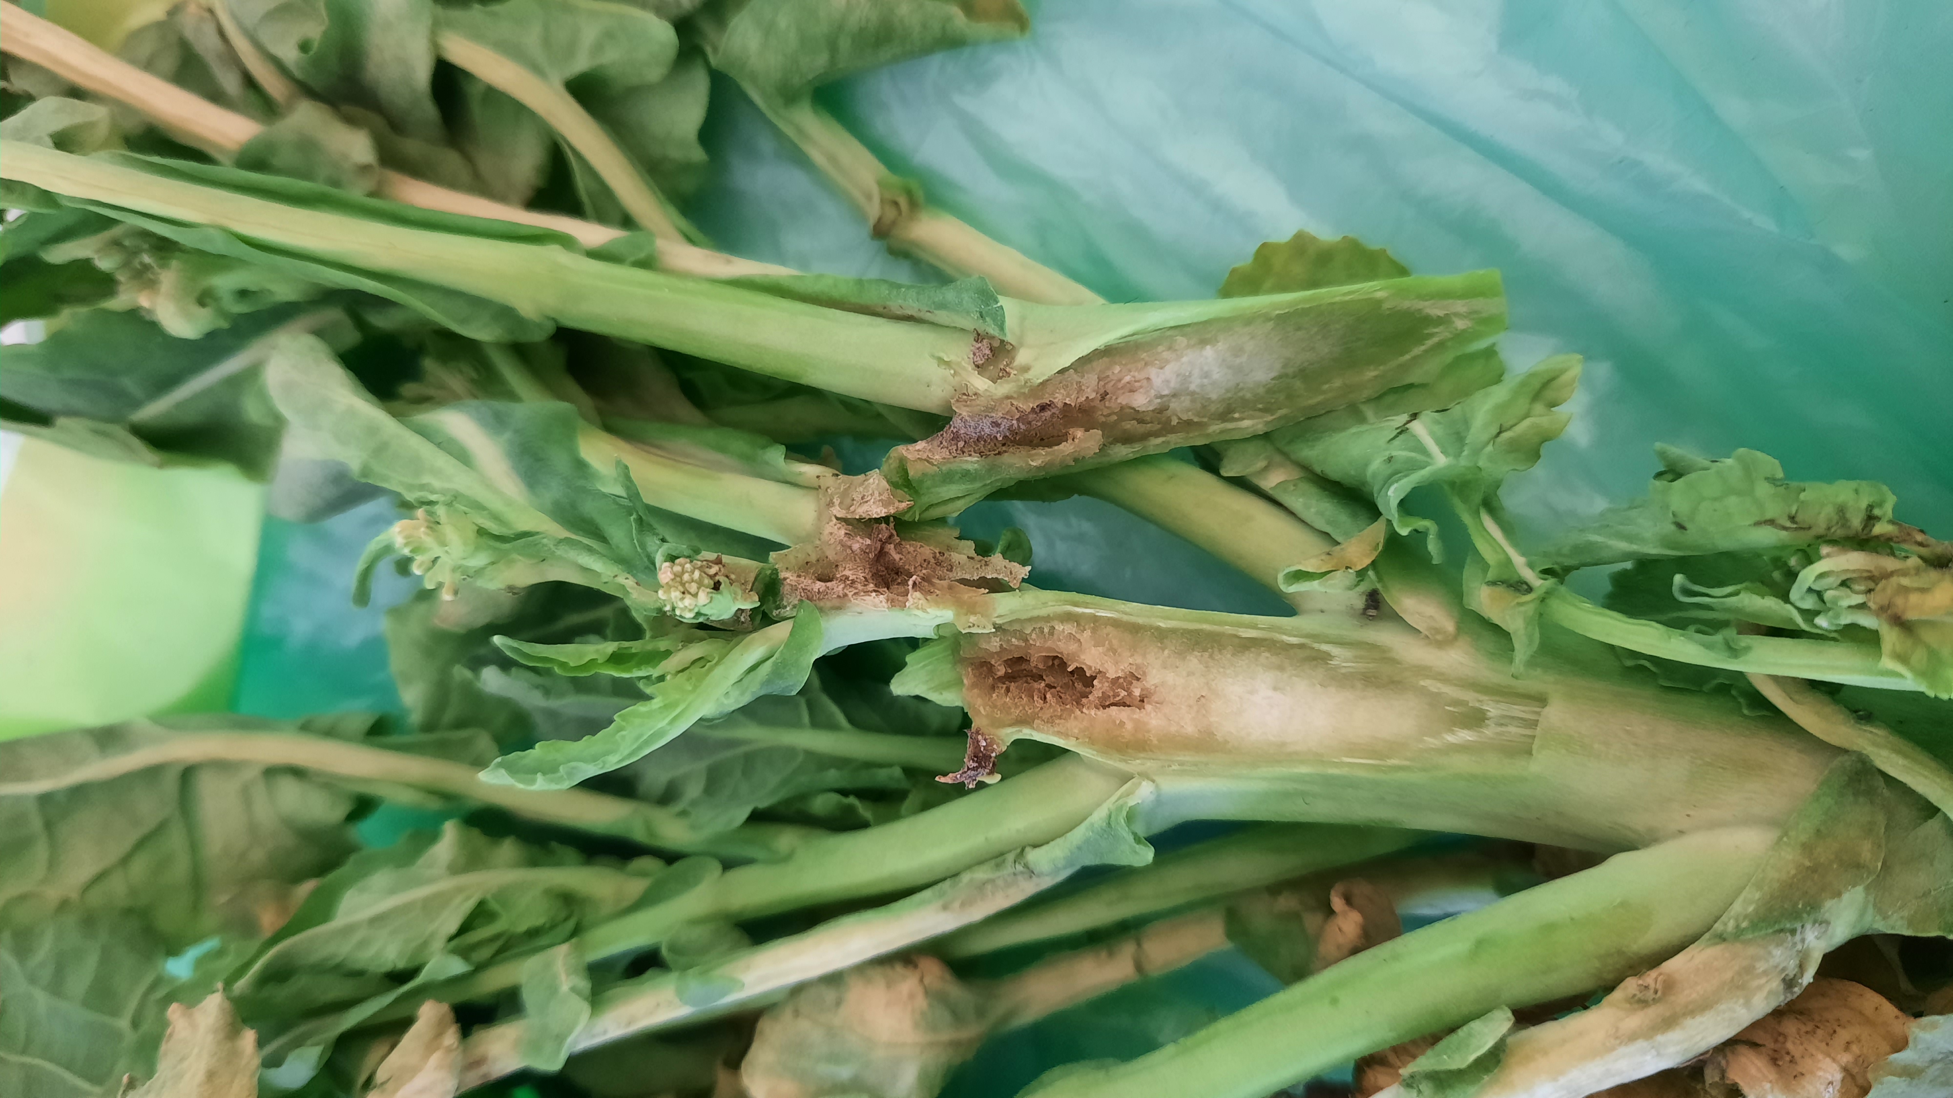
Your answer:
[[[148,1075],[174,991],[166,959],[129,916],[0,930],[0,1094],[102,1098],[125,1075]]]

